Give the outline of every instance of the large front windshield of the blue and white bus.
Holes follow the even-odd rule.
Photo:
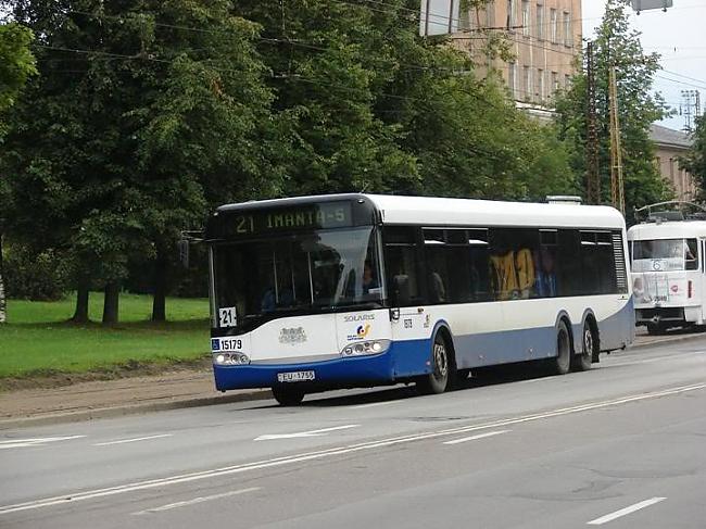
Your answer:
[[[382,302],[371,226],[222,244],[213,252],[216,306],[235,308],[238,327],[277,313]]]

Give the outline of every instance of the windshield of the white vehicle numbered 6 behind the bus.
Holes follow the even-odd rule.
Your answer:
[[[697,269],[697,255],[696,239],[654,239],[632,242],[634,272]],[[657,267],[655,261],[659,262]]]

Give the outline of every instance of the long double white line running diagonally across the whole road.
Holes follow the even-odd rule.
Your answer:
[[[326,450],[319,450],[315,452],[303,452],[301,454],[288,455],[281,457],[274,457],[272,459],[256,461],[253,463],[243,463],[240,465],[234,465],[222,468],[214,468],[211,470],[202,470],[198,473],[182,474],[177,476],[171,476],[167,478],[160,479],[150,479],[146,481],[137,481],[134,483],[127,483],[116,487],[111,487],[106,489],[96,489],[91,491],[75,492],[61,496],[45,497],[41,500],[34,500],[30,502],[16,503],[13,505],[3,505],[0,506],[0,515],[16,513],[18,511],[27,511],[35,508],[50,507],[52,505],[66,505],[70,503],[81,502],[86,500],[92,500],[94,497],[104,497],[115,494],[124,494],[127,492],[135,492],[138,490],[154,489],[159,487],[165,487],[169,484],[177,483],[187,483],[191,481],[198,481],[202,479],[218,478],[222,476],[232,476],[236,474],[243,474],[252,470],[261,470],[263,468],[274,468],[285,465],[291,465],[293,463],[302,463],[305,461],[323,459],[326,457],[332,457],[337,455],[350,454],[354,452],[363,452],[367,450],[393,446],[396,444],[404,444],[414,441],[423,441],[427,439],[436,439],[439,437],[449,437],[456,436],[458,433],[466,433],[470,431],[486,430],[490,428],[497,428],[502,426],[517,425],[521,423],[529,423],[533,420],[550,418],[550,417],[559,417],[564,415],[575,414],[587,412],[591,410],[600,410],[603,407],[615,406],[618,404],[626,404],[629,402],[639,402],[647,399],[658,399],[661,396],[676,395],[680,393],[685,393],[688,391],[696,391],[705,389],[706,383],[698,383],[692,386],[681,386],[677,388],[670,388],[667,390],[655,391],[652,393],[643,393],[640,395],[633,396],[623,396],[620,399],[614,399],[610,401],[594,402],[590,404],[583,404],[579,406],[565,407],[562,410],[555,410],[553,412],[544,412],[533,415],[525,415],[519,417],[513,417],[507,419],[500,419],[492,423],[486,423],[480,425],[468,425],[461,426],[455,428],[449,428],[438,431],[428,431],[424,433],[413,433],[408,436],[400,436],[393,438],[381,439],[378,441],[366,441],[357,444],[349,444],[344,446],[335,446]]]

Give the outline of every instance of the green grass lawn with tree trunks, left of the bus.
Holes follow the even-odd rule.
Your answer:
[[[7,325],[0,325],[0,378],[58,373],[110,373],[146,364],[174,364],[203,358],[209,351],[209,301],[169,298],[165,324],[152,324],[152,298],[121,294],[119,319],[102,327],[103,295],[90,294],[90,318],[67,323],[75,294],[58,302],[8,301]]]

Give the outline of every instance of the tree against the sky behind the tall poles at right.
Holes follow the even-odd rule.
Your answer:
[[[644,53],[640,32],[629,28],[625,2],[619,0],[608,0],[603,22],[596,28],[593,49],[602,199],[610,201],[608,71],[615,66],[626,216],[631,219],[634,207],[666,200],[672,193],[653,162],[654,144],[650,139],[650,125],[666,115],[661,97],[651,93],[654,75],[659,70],[659,55]],[[580,72],[573,77],[571,88],[557,102],[557,122],[560,138],[575,146],[572,166],[582,174],[587,171],[585,108],[587,76]]]

